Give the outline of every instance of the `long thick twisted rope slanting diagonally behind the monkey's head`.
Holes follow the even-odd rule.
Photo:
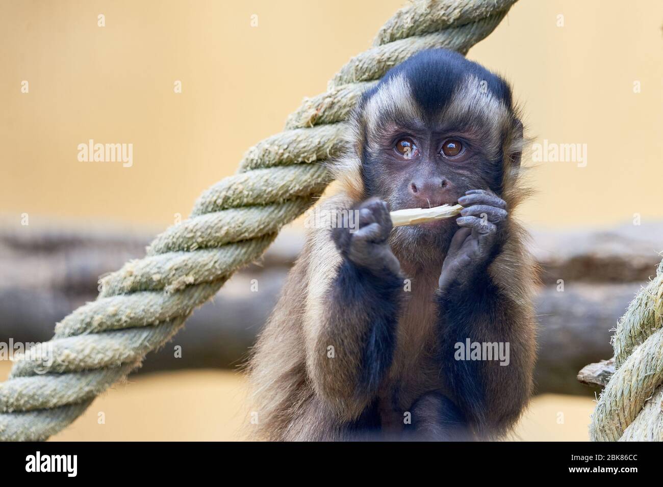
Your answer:
[[[147,256],[101,280],[99,297],[56,326],[52,364],[18,358],[0,384],[0,439],[43,440],[74,421],[98,394],[170,340],[192,310],[330,182],[322,164],[341,152],[359,95],[425,48],[465,54],[516,0],[427,0],[400,9],[373,48],[352,58],[328,91],[305,99],[286,130],[251,148],[239,173],[205,191],[186,221],[156,237]]]

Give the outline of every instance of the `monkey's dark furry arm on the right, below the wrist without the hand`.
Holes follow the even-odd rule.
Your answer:
[[[499,272],[499,271],[498,271]],[[482,435],[508,429],[530,398],[534,365],[532,313],[512,298],[490,276],[481,276],[473,292],[449,292],[439,297],[441,354],[448,388]],[[497,343],[508,363],[494,360],[457,360],[457,347],[470,343]],[[482,357],[484,358],[484,357]],[[507,362],[505,360],[505,362]]]

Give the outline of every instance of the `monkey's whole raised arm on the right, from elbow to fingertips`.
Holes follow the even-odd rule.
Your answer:
[[[466,205],[440,276],[442,363],[449,390],[481,435],[500,435],[520,415],[532,390],[534,269],[503,201],[485,191]],[[462,201],[462,202],[461,202]],[[495,207],[491,206],[495,204]],[[487,220],[479,220],[485,215]],[[497,343],[507,360],[459,360],[470,343]],[[462,343],[463,347],[456,347]],[[485,358],[485,357],[482,357]]]

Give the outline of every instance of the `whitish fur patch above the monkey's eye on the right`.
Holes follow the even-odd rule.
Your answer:
[[[455,88],[452,99],[441,115],[443,123],[483,121],[481,131],[487,132],[485,149],[496,156],[501,146],[501,135],[511,125],[511,112],[505,103],[491,93],[488,83],[474,75]]]

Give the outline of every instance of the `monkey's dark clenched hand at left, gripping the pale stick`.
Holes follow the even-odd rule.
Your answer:
[[[351,225],[351,223],[355,225]],[[343,258],[376,276],[398,274],[400,262],[389,248],[392,229],[387,203],[372,197],[349,210],[337,221],[331,238]]]

